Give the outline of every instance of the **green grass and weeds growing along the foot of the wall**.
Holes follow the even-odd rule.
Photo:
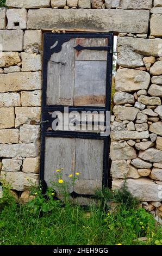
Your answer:
[[[154,245],[160,242],[162,230],[144,209],[135,206],[130,209],[123,202],[112,213],[102,204],[92,204],[86,209],[68,203],[62,205],[53,199],[50,190],[47,196],[48,200],[38,190],[32,202],[20,205],[4,191],[0,200],[0,245]],[[136,240],[142,236],[147,236],[148,241]]]

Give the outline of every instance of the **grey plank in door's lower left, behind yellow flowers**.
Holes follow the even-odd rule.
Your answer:
[[[63,180],[69,180],[69,174],[74,175],[75,166],[75,145],[73,138],[53,138],[47,137],[45,143],[45,181],[51,186],[54,179],[55,170],[64,168]],[[71,186],[70,192],[73,192]]]

